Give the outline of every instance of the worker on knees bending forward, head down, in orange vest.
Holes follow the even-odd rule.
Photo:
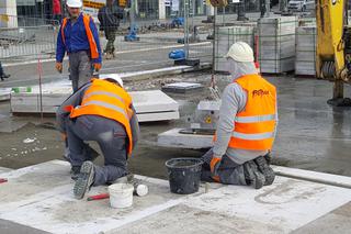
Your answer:
[[[127,175],[127,158],[136,146],[139,125],[122,79],[100,75],[69,97],[58,109],[59,131],[66,135],[73,193],[82,199],[91,186],[111,183]],[[104,166],[95,166],[84,141],[99,144]]]

